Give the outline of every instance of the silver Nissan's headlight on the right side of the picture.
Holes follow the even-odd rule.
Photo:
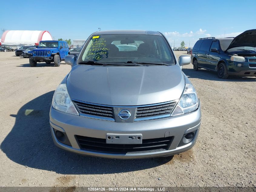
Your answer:
[[[198,96],[194,87],[191,84],[186,84],[181,99],[171,116],[192,112],[198,108],[198,103]]]

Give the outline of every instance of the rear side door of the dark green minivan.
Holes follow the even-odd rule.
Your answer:
[[[198,66],[209,69],[207,56],[210,50],[212,39],[204,39],[198,51]]]

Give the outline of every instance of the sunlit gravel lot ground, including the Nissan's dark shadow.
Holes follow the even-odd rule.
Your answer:
[[[201,101],[196,145],[172,160],[115,160],[53,144],[49,109],[69,71],[64,62],[32,68],[15,52],[0,52],[0,186],[256,186],[255,77],[223,80],[185,66]]]

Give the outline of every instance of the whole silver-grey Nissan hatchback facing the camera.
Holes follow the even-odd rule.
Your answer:
[[[194,146],[201,124],[198,95],[163,34],[100,31],[56,89],[50,110],[54,143],[95,157],[172,156]]]

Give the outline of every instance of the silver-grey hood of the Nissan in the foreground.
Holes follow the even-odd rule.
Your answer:
[[[179,66],[77,65],[67,78],[72,99],[136,106],[179,99],[185,78]]]

